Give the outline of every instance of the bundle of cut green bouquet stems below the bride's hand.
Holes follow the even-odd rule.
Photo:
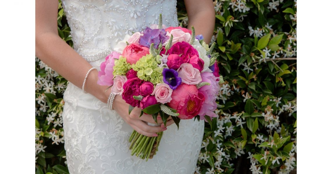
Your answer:
[[[152,159],[156,154],[156,151],[158,151],[163,132],[159,132],[157,135],[157,137],[147,137],[134,130],[129,137],[129,142],[131,142],[129,146],[131,155],[135,154],[141,159],[146,159],[146,161],[149,158]]]

